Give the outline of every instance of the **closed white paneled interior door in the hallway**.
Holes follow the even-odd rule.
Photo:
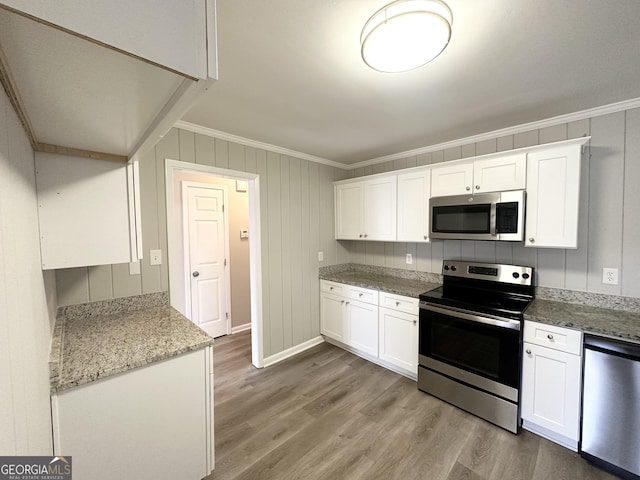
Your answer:
[[[229,333],[224,188],[184,182],[191,321],[212,337]]]

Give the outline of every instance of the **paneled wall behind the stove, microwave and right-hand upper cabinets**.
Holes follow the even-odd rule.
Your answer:
[[[524,248],[522,243],[433,241],[429,244],[340,242],[349,260],[440,273],[442,260],[516,263],[537,269],[539,286],[640,297],[640,109],[495,138],[360,168],[353,176],[429,165],[591,135],[582,159],[578,249]],[[413,265],[405,265],[406,253]],[[620,269],[603,285],[602,268]]]

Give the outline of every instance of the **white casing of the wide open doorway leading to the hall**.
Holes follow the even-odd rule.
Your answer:
[[[251,363],[257,368],[264,366],[264,327],[262,318],[262,243],[260,228],[260,178],[256,173],[240,172],[208,165],[199,165],[179,160],[165,159],[165,203],[167,219],[167,265],[169,268],[169,303],[184,314],[183,269],[179,264],[184,259],[182,225],[176,225],[175,211],[179,208],[174,200],[175,177],[180,172],[200,173],[212,177],[244,180],[249,189],[249,270],[251,290]]]

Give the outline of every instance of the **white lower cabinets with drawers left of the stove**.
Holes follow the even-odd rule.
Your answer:
[[[320,332],[369,360],[417,377],[417,298],[322,280]]]

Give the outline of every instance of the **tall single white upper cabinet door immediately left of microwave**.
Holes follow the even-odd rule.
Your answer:
[[[430,170],[398,175],[399,242],[429,241],[430,196]]]

